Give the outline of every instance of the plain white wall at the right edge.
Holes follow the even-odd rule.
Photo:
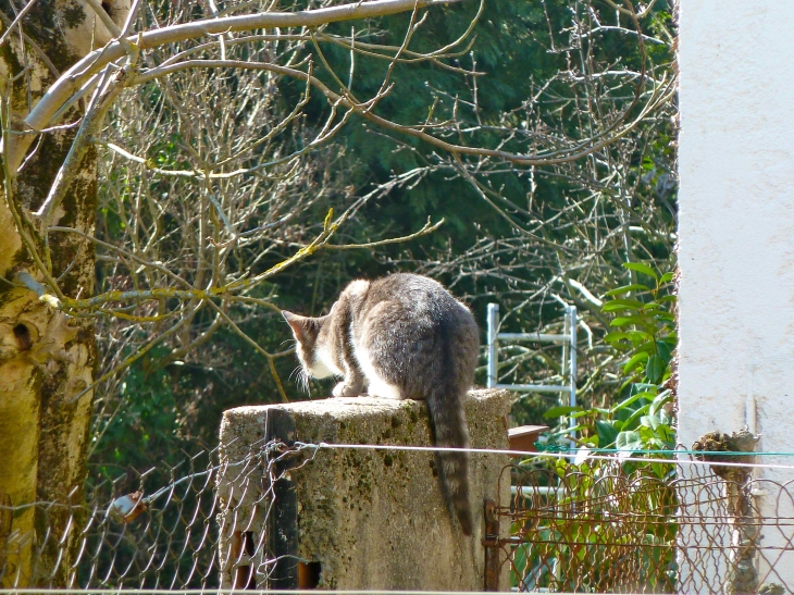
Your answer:
[[[794,1],[681,3],[679,439],[794,451]]]

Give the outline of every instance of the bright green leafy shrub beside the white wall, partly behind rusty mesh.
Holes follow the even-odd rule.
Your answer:
[[[555,512],[542,523],[541,535],[526,534],[523,522],[513,526],[513,533],[526,541],[517,550],[513,586],[611,592],[633,584],[657,593],[674,590],[674,468],[663,462],[621,461],[675,446],[673,394],[666,387],[678,338],[673,274],[659,274],[642,262],[623,268],[638,278],[607,292],[611,299],[601,307],[616,329],[606,339],[624,360],[626,377],[617,393],[618,402],[555,407],[544,416],[562,418],[566,430],[559,435],[574,420],[582,446],[616,449],[618,461],[585,459],[572,464],[558,458],[549,463],[557,478],[546,483],[556,483],[561,496],[548,505]],[[670,458],[670,454],[652,457]],[[622,517],[630,522],[622,522]],[[555,565],[566,569],[561,578],[544,574],[544,568]]]

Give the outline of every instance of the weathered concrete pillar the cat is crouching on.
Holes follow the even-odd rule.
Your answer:
[[[472,447],[508,447],[509,408],[503,391],[469,394]],[[273,437],[432,445],[426,407],[411,400],[333,398],[226,411],[218,484],[223,587],[483,590],[483,507],[485,499],[509,501],[509,479],[499,483],[507,456],[471,455],[475,529],[466,537],[450,520],[433,453],[309,448],[280,459],[263,449]],[[269,476],[285,470],[273,484]],[[504,565],[503,590],[507,571]]]

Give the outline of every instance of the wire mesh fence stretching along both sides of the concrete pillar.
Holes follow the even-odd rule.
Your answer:
[[[266,526],[281,504],[277,484],[317,450],[263,441],[236,460],[214,449],[176,466],[92,478],[79,503],[2,503],[0,583],[212,591],[224,586],[225,572],[233,587],[271,585],[278,559]],[[493,507],[497,520],[509,521],[503,523],[509,532],[489,535],[486,529],[482,548],[509,567],[513,590],[794,590],[791,483],[754,476],[752,468],[691,464],[688,456],[667,462],[514,460],[499,480],[510,482],[511,499]],[[248,501],[246,485],[257,501]],[[251,504],[256,515],[241,512]],[[65,525],[51,522],[64,509]],[[11,519],[23,515],[35,518],[28,534],[10,529]]]

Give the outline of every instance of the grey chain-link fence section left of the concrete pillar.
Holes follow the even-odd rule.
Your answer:
[[[245,548],[225,556],[219,549],[224,520],[234,521],[227,510],[233,503],[219,497],[219,478],[240,484],[251,475],[261,483],[270,470],[276,482],[274,466],[295,450],[273,441],[228,461],[215,448],[175,466],[91,478],[79,503],[2,503],[0,586],[219,588],[221,560],[235,566],[246,558]],[[271,494],[259,492],[263,499]],[[237,494],[234,501],[244,497]],[[34,531],[13,530],[12,519],[24,515],[34,517]]]

